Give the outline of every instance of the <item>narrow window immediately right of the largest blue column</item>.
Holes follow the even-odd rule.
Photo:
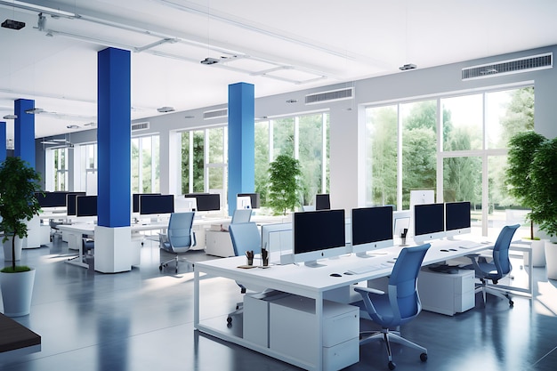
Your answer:
[[[160,191],[159,138],[149,135],[132,138],[132,191]]]

